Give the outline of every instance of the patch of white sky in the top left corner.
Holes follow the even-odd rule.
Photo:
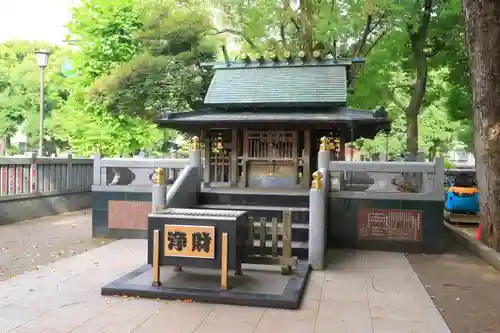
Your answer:
[[[0,0],[0,42],[40,40],[62,44],[75,0]]]

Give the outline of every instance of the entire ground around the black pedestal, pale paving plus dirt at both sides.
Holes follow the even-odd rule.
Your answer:
[[[303,308],[284,311],[102,297],[102,285],[145,262],[145,245],[91,250],[105,241],[91,239],[88,214],[0,227],[0,281],[11,277],[0,282],[0,333],[449,332],[425,290],[453,333],[500,332],[500,274],[451,238],[444,255],[333,253]]]

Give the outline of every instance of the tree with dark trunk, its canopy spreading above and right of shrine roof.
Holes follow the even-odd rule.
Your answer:
[[[418,151],[419,115],[429,104],[426,100],[429,61],[448,48],[445,33],[459,16],[457,4],[458,0],[300,0],[295,4],[218,0],[216,6],[224,15],[216,30],[241,36],[250,52],[279,53],[286,49],[304,50],[310,55],[319,49],[340,57],[367,57],[366,66],[352,68],[357,84],[356,97],[350,100],[360,107],[371,108],[383,101],[398,106],[405,114],[405,146],[409,158],[414,159]],[[377,55],[372,57],[373,53]],[[391,70],[378,71],[377,80],[373,80],[369,75],[374,72],[373,61],[379,62],[379,68]],[[394,75],[396,80],[391,77]],[[379,76],[388,85],[381,84]],[[367,81],[371,81],[368,83],[371,88],[362,88]],[[364,91],[358,93],[358,89]],[[394,100],[397,95],[408,99]],[[368,105],[368,100],[375,104]]]

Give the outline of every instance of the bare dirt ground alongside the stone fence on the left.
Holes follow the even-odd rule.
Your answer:
[[[0,281],[107,244],[92,239],[91,211],[0,226]]]

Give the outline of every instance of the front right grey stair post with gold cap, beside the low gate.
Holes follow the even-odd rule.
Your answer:
[[[309,264],[315,270],[324,269],[326,254],[327,198],[320,171],[313,173],[309,194]]]

